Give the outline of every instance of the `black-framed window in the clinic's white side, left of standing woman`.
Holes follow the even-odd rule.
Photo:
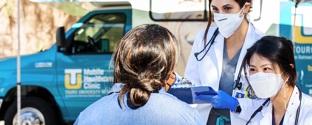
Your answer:
[[[149,16],[153,21],[207,21],[207,6],[207,0],[150,0]]]

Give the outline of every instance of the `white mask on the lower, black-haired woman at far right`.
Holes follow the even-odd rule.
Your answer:
[[[249,76],[249,83],[258,98],[270,98],[280,91],[286,81],[281,74],[258,72]]]

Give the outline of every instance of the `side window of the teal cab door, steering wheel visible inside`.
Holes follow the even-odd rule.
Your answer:
[[[124,13],[99,14],[76,30],[73,53],[112,53],[124,35]]]

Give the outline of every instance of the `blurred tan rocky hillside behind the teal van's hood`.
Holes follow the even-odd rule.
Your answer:
[[[46,4],[21,0],[21,55],[48,49],[56,42],[56,30],[69,29],[81,17]],[[17,55],[17,0],[0,0],[0,58]]]

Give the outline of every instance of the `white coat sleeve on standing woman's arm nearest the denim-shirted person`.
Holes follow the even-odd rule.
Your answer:
[[[198,52],[198,44],[202,43],[202,36],[203,32],[205,32],[205,29],[200,31],[193,43],[191,54],[188,58],[188,63],[185,68],[184,77],[192,82],[192,84],[202,85],[200,82],[200,77],[198,73],[198,61],[196,60],[194,53]]]

